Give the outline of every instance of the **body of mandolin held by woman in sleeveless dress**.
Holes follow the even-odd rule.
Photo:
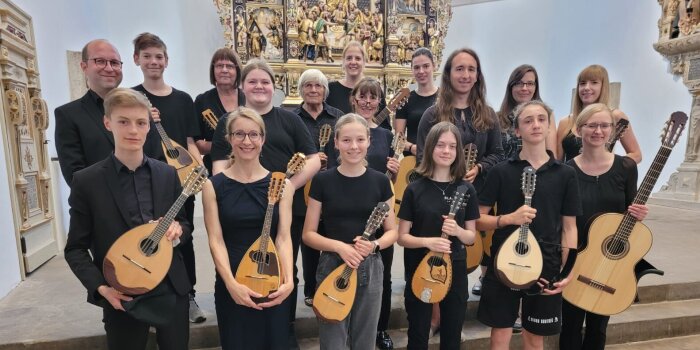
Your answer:
[[[257,301],[265,301],[270,293],[279,289],[281,269],[275,245],[271,240],[267,240],[267,252],[263,257],[260,241],[261,237],[245,252],[235,278],[238,283],[262,295]]]

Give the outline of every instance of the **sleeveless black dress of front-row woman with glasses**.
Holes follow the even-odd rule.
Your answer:
[[[260,237],[267,210],[270,174],[252,183],[241,183],[219,173],[211,178],[211,182],[231,272],[235,276],[243,255]],[[270,228],[273,242],[278,221],[279,206],[275,205]],[[263,310],[238,305],[217,272],[214,301],[222,349],[288,348],[290,298]]]

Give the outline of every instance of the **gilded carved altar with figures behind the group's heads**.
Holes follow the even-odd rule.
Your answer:
[[[450,0],[214,0],[227,45],[245,62],[262,57],[275,71],[285,105],[301,102],[297,83],[308,68],[340,79],[348,41],[368,55],[365,75],[387,98],[412,80],[413,51],[428,47],[440,66],[452,17]]]

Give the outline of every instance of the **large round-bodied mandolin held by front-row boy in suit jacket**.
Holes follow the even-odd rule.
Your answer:
[[[102,274],[112,288],[127,295],[141,295],[163,281],[173,260],[173,244],[165,233],[187,198],[202,189],[207,176],[205,167],[193,169],[163,219],[136,226],[112,244],[102,262]]]

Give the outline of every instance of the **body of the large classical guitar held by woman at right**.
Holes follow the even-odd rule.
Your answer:
[[[564,299],[589,312],[614,315],[625,311],[637,294],[634,266],[646,255],[653,241],[651,231],[641,222],[632,228],[628,244],[617,245],[613,254],[606,249],[624,215],[598,216],[588,234],[588,246],[578,253],[571,282]],[[614,252],[617,252],[615,254]]]

